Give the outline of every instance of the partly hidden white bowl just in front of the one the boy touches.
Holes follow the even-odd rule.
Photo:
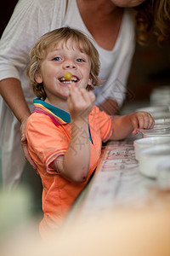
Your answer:
[[[169,144],[170,145],[170,136],[168,137],[145,137],[133,142],[135,158],[136,160],[140,159],[140,151],[144,148],[150,148],[154,145]]]

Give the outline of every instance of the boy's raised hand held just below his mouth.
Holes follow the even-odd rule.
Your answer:
[[[92,91],[84,88],[77,88],[75,85],[69,85],[70,95],[67,103],[72,119],[85,118],[88,119],[88,114],[94,107],[95,96]]]

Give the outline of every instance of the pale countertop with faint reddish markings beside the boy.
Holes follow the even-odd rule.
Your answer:
[[[120,207],[142,209],[150,204],[160,207],[162,196],[170,203],[170,192],[161,191],[156,179],[139,172],[133,147],[136,138],[139,137],[130,136],[105,145],[94,177],[78,198],[69,218],[93,220],[98,213]]]

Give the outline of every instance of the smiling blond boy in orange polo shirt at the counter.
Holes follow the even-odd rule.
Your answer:
[[[98,165],[102,142],[150,129],[150,113],[115,118],[94,106],[90,89],[99,84],[99,55],[90,40],[69,27],[48,32],[30,54],[27,76],[38,97],[26,137],[42,178],[42,236],[65,214]],[[65,73],[71,79],[65,79]],[[87,90],[88,89],[88,90]]]

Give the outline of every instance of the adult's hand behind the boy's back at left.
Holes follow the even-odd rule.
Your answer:
[[[26,123],[27,123],[27,119],[24,119],[22,122],[21,122],[21,125],[20,125],[20,137],[21,137],[21,145],[22,145],[22,149],[23,149],[23,152],[24,152],[24,155],[25,155],[25,158],[26,160],[31,164],[31,166],[37,170],[37,165],[35,164],[35,162],[31,159],[31,155],[29,154],[29,151],[28,151],[28,144],[27,144],[27,141],[26,141]]]

